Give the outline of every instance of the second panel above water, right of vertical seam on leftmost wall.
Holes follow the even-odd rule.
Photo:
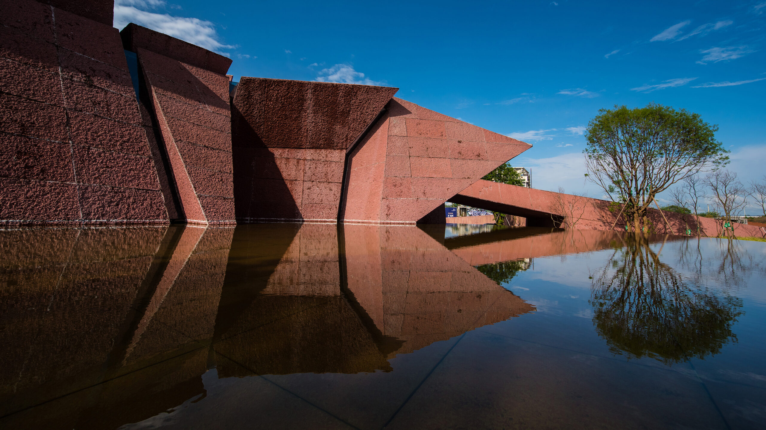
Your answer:
[[[149,157],[74,146],[78,184],[159,190],[154,161]]]

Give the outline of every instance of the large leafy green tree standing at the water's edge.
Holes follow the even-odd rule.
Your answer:
[[[696,113],[656,103],[601,109],[585,132],[586,176],[625,204],[632,230],[640,231],[656,194],[728,163],[717,131]]]

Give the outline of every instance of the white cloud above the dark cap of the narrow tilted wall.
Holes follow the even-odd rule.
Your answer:
[[[185,18],[168,14],[155,14],[142,11],[140,8],[155,8],[165,5],[160,0],[117,0],[114,3],[114,27],[122,30],[130,22],[146,28],[178,37],[182,41],[195,44],[205,49],[214,50],[218,54],[229,55],[226,49],[235,48],[221,42],[221,37],[211,21],[198,18]]]

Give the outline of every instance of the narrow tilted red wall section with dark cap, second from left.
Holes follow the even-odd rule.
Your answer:
[[[126,49],[138,54],[182,218],[234,223],[229,78],[218,73],[231,60],[224,69],[216,60],[211,71],[204,68],[208,60],[221,56],[204,48],[133,24],[122,35]]]

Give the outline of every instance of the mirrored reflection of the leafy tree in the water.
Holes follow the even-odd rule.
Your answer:
[[[686,283],[643,239],[628,239],[594,276],[594,324],[613,353],[679,363],[736,341],[739,298]]]

